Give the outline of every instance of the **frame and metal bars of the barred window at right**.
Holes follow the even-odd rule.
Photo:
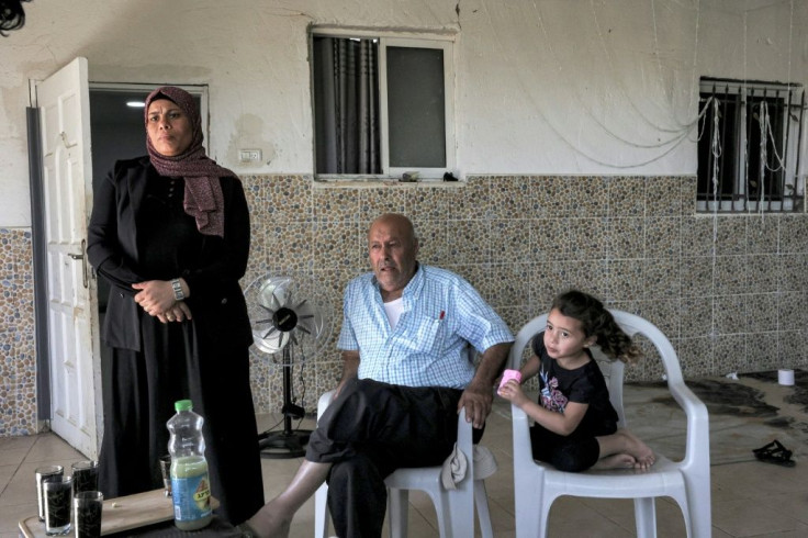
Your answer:
[[[702,192],[700,188],[697,188],[696,211],[698,213],[738,214],[752,211],[786,213],[797,210],[797,201],[799,197],[805,195],[805,177],[800,173],[803,164],[799,158],[800,141],[804,136],[803,124],[805,123],[805,116],[799,112],[805,103],[805,88],[803,85],[702,77],[699,80],[699,102],[704,101],[704,94],[722,97],[725,98],[722,99],[723,102],[728,102],[728,99],[726,99],[728,96],[736,98],[733,105],[738,111],[733,120],[734,132],[730,133],[729,131],[721,128],[721,134],[719,135],[722,153],[725,150],[723,148],[727,147],[726,145],[728,141],[731,141],[733,145],[732,150],[734,153],[734,160],[732,165],[734,166],[734,170],[732,170],[733,177],[731,178],[731,190],[723,192],[725,189],[722,189],[722,192],[718,193],[718,200],[715,200],[711,193],[708,193],[706,199],[702,198],[704,192]],[[793,97],[797,97],[798,99],[792,99]],[[777,100],[785,101],[782,104],[776,104]],[[779,146],[777,155],[785,164],[785,170],[782,172],[783,179],[781,180],[782,192],[776,194],[776,199],[764,199],[763,201],[754,194],[752,195],[755,198],[750,198],[750,194],[747,192],[749,175],[748,165],[750,165],[747,150],[750,150],[750,155],[752,150],[759,150],[758,148],[752,149],[749,147],[749,128],[754,125],[752,119],[749,117],[749,109],[750,103],[760,103],[762,101],[766,101],[770,114],[772,113],[771,109],[779,110],[778,114],[781,114],[781,117],[772,117],[770,123],[770,126],[773,128],[772,134],[776,137],[775,141],[770,141],[770,144],[774,144],[775,148]],[[699,121],[699,123],[702,123],[702,121],[705,122],[704,131],[699,133],[697,143],[699,169],[703,166],[703,162],[700,161],[702,141],[704,137],[706,137],[707,141],[710,141],[712,137],[712,133],[706,128],[711,124],[711,120],[708,121],[708,117],[711,117],[714,113],[712,107],[714,105],[710,102],[708,108],[703,111],[703,114],[705,114],[706,117]],[[753,112],[755,105],[751,104],[751,107]],[[726,111],[727,109],[725,108],[723,110]],[[790,121],[787,121],[787,117],[788,114],[793,115],[795,111],[799,114],[799,120],[792,123]],[[774,128],[777,125],[781,126],[779,132],[774,133]],[[722,126],[719,125],[719,127]],[[708,156],[708,162],[710,162],[710,160],[711,159]],[[709,166],[708,162],[705,162],[704,166]],[[712,171],[708,170],[707,175],[709,184],[711,182]],[[755,172],[755,177],[756,176],[758,175]],[[725,179],[725,181],[727,180],[728,179]],[[787,194],[786,188],[792,184],[792,180],[794,181],[794,193]],[[697,180],[697,184],[700,187],[700,181]],[[765,187],[765,184],[763,187]]]

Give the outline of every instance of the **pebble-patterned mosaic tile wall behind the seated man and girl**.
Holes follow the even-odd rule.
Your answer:
[[[467,278],[514,330],[577,287],[656,324],[685,377],[808,366],[808,215],[696,215],[694,177],[243,179],[254,229],[245,287],[265,271],[294,272],[334,311],[325,350],[293,369],[307,410],[339,377],[341,290],[368,270],[364,234],[389,211],[414,221],[423,262]],[[279,410],[280,369],[257,358],[252,371],[257,407]],[[662,376],[653,354],[628,372]]]

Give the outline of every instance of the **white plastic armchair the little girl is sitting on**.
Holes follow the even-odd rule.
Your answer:
[[[687,417],[685,457],[675,462],[656,453],[647,472],[633,470],[562,472],[549,463],[535,461],[530,449],[528,417],[512,405],[514,427],[514,493],[516,537],[547,537],[550,506],[561,495],[602,498],[633,498],[637,536],[656,536],[654,497],[670,496],[678,503],[688,537],[711,535],[710,451],[707,407],[685,385],[676,352],[667,338],[653,324],[627,312],[610,310],[629,336],[644,335],[659,351],[667,376],[667,388]],[[519,330],[510,349],[509,368],[521,365],[523,350],[534,335],[547,327],[547,314],[531,320]],[[599,349],[595,349],[599,354]],[[605,358],[602,354],[601,357]],[[626,427],[622,408],[621,361],[610,361],[607,379],[611,404]],[[606,376],[605,366],[601,365]]]

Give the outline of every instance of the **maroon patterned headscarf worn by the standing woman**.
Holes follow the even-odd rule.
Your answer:
[[[188,115],[193,130],[191,145],[180,155],[167,157],[152,145],[146,133],[146,147],[152,164],[161,176],[186,179],[186,198],[182,202],[186,213],[197,220],[197,228],[205,235],[224,237],[224,197],[218,178],[233,176],[232,170],[221,167],[205,155],[202,147],[202,117],[193,97],[172,86],[157,88],[146,98],[144,122],[148,124],[148,107],[157,99],[168,99]]]

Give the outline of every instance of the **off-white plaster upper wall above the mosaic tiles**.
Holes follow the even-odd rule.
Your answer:
[[[34,0],[0,38],[0,227],[30,226],[29,79],[210,86],[211,156],[312,172],[310,24],[456,32],[458,171],[695,173],[699,76],[808,82],[805,0]],[[260,167],[236,150],[259,147]],[[805,149],[803,150],[805,160]]]

